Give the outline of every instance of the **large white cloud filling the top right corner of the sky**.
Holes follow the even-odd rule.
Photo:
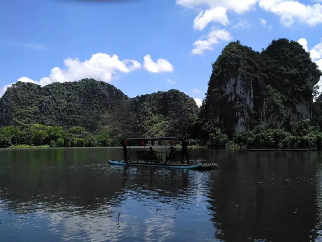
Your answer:
[[[266,11],[280,16],[280,22],[291,26],[295,20],[315,26],[322,23],[322,5],[304,5],[293,0],[260,0],[259,5]]]

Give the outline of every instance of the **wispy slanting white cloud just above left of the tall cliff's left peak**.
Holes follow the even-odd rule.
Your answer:
[[[194,42],[195,48],[192,54],[203,55],[205,50],[213,50],[213,45],[218,44],[219,40],[231,41],[232,35],[224,29],[212,30],[208,35]]]

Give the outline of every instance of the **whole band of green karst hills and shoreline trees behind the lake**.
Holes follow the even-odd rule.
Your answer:
[[[301,45],[261,52],[229,43],[212,65],[200,110],[172,89],[128,98],[94,79],[17,82],[0,99],[0,145],[113,146],[125,136],[179,136],[212,147],[321,147],[321,72]]]

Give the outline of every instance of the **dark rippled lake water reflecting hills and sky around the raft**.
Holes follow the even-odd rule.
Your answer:
[[[194,153],[220,167],[109,165],[117,148],[0,149],[1,241],[322,240],[321,152]]]

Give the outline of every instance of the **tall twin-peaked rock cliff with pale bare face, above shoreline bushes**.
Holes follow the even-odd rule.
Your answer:
[[[297,42],[272,41],[261,53],[231,42],[213,63],[201,118],[230,137],[259,121],[291,129],[312,118],[312,88],[321,73]]]

